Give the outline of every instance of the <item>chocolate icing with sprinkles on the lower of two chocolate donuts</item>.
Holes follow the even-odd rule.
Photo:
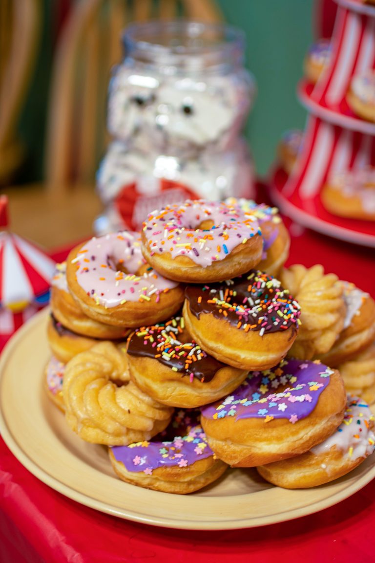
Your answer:
[[[218,369],[224,367],[192,341],[180,316],[135,330],[129,338],[128,354],[156,359],[181,376],[188,376],[190,381],[196,378],[202,383],[210,382]]]

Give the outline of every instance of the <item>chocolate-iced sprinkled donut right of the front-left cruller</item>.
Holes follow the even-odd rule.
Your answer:
[[[195,407],[236,389],[247,370],[224,365],[187,333],[183,317],[141,327],[129,337],[130,377],[152,399],[165,405]]]

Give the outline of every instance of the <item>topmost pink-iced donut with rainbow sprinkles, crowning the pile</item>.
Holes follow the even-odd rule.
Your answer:
[[[225,202],[166,205],[143,223],[143,256],[178,282],[220,282],[244,274],[261,260],[262,250],[256,217]]]

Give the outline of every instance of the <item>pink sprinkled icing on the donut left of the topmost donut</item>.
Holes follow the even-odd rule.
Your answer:
[[[72,262],[78,264],[77,282],[98,305],[116,307],[126,301],[150,301],[174,287],[176,282],[163,278],[153,269],[137,275],[144,265],[139,233],[120,231],[94,237]],[[118,269],[121,264],[125,273]]]

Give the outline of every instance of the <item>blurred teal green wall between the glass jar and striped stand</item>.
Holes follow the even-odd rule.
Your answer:
[[[257,173],[264,176],[286,129],[304,128],[296,97],[302,63],[313,38],[313,0],[219,0],[228,23],[246,33],[246,67],[257,97],[246,126]]]

